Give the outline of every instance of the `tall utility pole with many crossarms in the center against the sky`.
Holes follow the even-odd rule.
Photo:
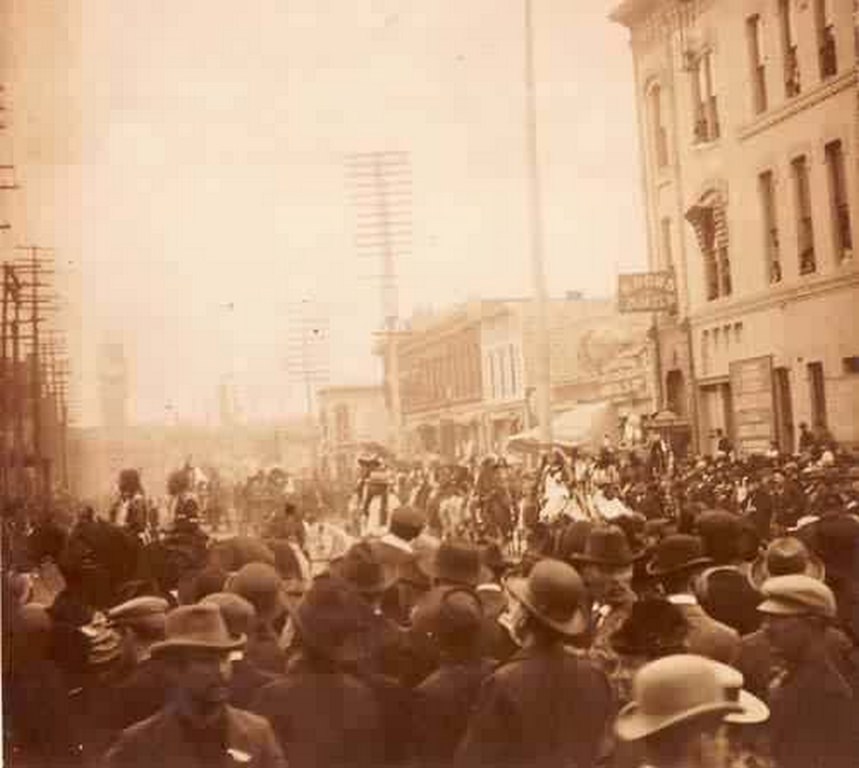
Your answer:
[[[397,339],[400,335],[397,260],[411,254],[411,165],[407,152],[349,155],[347,180],[356,209],[355,247],[377,260],[384,342],[385,391],[391,417],[391,447],[403,450],[402,405]]]

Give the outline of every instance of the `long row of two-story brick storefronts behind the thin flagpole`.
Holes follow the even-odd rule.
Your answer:
[[[553,410],[611,401],[621,416],[653,409],[649,320],[570,294],[549,305]],[[474,301],[413,320],[397,345],[402,426],[412,452],[463,457],[502,450],[535,423],[534,307]]]

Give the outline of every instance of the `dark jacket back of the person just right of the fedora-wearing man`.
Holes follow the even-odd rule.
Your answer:
[[[252,710],[268,718],[289,768],[376,768],[384,730],[376,693],[334,669],[295,663],[257,694]]]

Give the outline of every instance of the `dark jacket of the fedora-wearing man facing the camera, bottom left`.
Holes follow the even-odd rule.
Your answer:
[[[271,726],[240,709],[226,709],[226,743],[209,744],[203,754],[199,740],[187,730],[171,706],[122,732],[105,757],[106,768],[286,768]]]

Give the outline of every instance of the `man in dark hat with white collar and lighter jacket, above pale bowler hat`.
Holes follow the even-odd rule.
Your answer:
[[[656,545],[647,573],[657,578],[668,601],[683,612],[689,624],[689,653],[730,664],[737,655],[740,636],[726,624],[710,617],[692,590],[695,574],[712,561],[704,557],[701,540],[684,533],[666,536]]]

